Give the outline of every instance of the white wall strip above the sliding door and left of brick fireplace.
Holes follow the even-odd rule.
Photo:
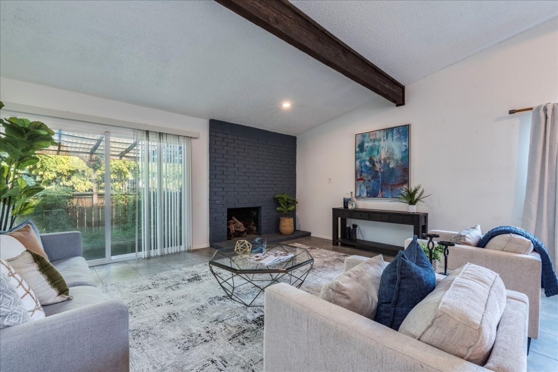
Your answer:
[[[209,247],[209,121],[0,77],[0,100],[136,123],[195,131],[192,140],[192,243]],[[9,107],[6,107],[9,109]]]

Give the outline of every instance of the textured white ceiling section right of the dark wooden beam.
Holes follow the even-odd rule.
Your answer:
[[[290,1],[403,85],[558,14],[555,0]]]

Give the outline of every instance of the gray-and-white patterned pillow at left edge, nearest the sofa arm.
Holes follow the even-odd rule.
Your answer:
[[[0,273],[0,329],[22,324],[31,320],[23,302],[12,287],[9,278]]]

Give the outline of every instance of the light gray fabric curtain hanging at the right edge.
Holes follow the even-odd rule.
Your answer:
[[[523,228],[558,258],[558,104],[533,107]]]

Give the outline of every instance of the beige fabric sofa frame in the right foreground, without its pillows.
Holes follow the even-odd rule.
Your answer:
[[[347,258],[345,270],[363,259]],[[528,311],[525,294],[507,291],[492,353],[479,366],[280,283],[266,289],[263,370],[525,371]]]

